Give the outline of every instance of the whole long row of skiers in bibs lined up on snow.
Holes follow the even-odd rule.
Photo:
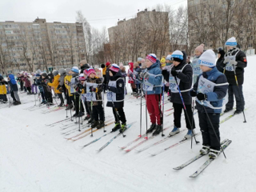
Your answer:
[[[226,50],[225,53],[224,49],[218,49],[217,62],[214,51],[204,50],[203,44],[195,49],[192,62],[187,58],[186,52],[181,50],[175,50],[161,61],[155,54],[148,54],[146,58],[138,58],[137,62],[129,62],[127,73],[122,63],[118,66],[106,62],[102,64],[101,72],[90,67],[86,60],[82,60],[80,71],[77,66],[54,70],[52,74],[37,70],[32,77],[27,72],[21,72],[17,81],[20,82],[21,90],[25,83],[29,94],[37,94],[39,90],[41,104],[49,106],[53,105],[54,89],[54,94],[61,100],[58,106],[64,106],[65,98],[66,110],[74,107],[73,117],[77,118],[85,114],[86,108],[85,120],[91,123],[91,128],[98,129],[105,124],[103,103],[106,93],[106,106],[113,108],[115,118],[112,131],[120,130],[121,133],[126,130],[126,115],[123,110],[127,94],[126,76],[134,97],[143,97],[146,100],[151,122],[150,128],[146,130],[147,134],[158,135],[163,131],[161,102],[163,94],[167,92],[174,109],[174,127],[169,135],[174,136],[180,132],[183,110],[187,128],[185,138],[192,138],[196,128],[193,113],[195,102],[203,141],[200,153],[209,153],[211,158],[216,158],[221,153],[219,122],[223,101],[228,98],[224,112],[233,110],[234,97],[234,114],[240,114],[245,107],[242,84],[244,68],[247,65],[246,54],[239,49],[235,38],[227,40]],[[1,101],[6,102],[8,82],[2,75],[0,80]],[[10,91],[13,92],[14,105],[20,104],[13,74],[9,74],[8,81]]]

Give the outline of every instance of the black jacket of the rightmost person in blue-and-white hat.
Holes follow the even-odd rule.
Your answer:
[[[225,57],[231,51],[232,50],[228,50],[228,52],[225,54]],[[232,55],[235,55],[235,54],[237,54],[235,57],[235,61],[238,62],[238,65],[235,67],[235,72],[236,72],[237,78],[238,78],[238,85],[242,85],[243,81],[244,81],[244,77],[243,77],[244,68],[247,66],[246,54],[242,50],[235,51],[235,52],[233,52]],[[226,63],[224,64],[223,62],[224,62],[224,60],[221,62],[220,66],[222,66],[222,68],[225,68]],[[224,74],[226,75],[227,82],[229,82],[230,85],[237,84],[235,81],[235,78],[234,78],[234,71],[225,70]]]

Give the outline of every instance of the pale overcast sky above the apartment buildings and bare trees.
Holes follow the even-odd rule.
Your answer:
[[[0,22],[32,22],[46,18],[47,22],[75,22],[76,11],[82,10],[90,25],[102,29],[115,26],[119,19],[129,19],[138,10],[157,4],[177,9],[186,6],[186,0],[0,0]]]

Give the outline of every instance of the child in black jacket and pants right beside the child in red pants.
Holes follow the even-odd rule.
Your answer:
[[[170,73],[162,71],[162,74],[164,75],[166,81],[169,79],[171,91],[170,102],[172,102],[174,106],[174,129],[170,132],[169,135],[172,136],[180,132],[179,128],[181,127],[181,116],[183,109],[184,112],[187,112],[187,115],[185,113],[185,119],[186,128],[188,129],[188,131],[185,135],[185,138],[191,138],[192,129],[195,128],[194,123],[193,127],[191,127],[192,122],[194,122],[194,117],[191,107],[192,98],[189,94],[193,81],[193,69],[189,64],[186,64],[186,53],[184,51],[175,50],[174,53],[171,55],[171,58],[173,60],[173,66],[171,66],[170,68]],[[178,85],[175,78],[177,79]],[[179,94],[178,86],[181,91],[182,98]],[[186,106],[186,109],[184,109],[183,107],[182,100]]]

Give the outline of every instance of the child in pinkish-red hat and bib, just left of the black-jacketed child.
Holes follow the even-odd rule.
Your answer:
[[[96,76],[93,68],[86,70],[85,93],[88,106],[92,106],[93,122],[91,128],[97,126],[100,129],[104,126],[104,111],[102,107],[102,79]],[[99,119],[99,121],[98,121]]]

